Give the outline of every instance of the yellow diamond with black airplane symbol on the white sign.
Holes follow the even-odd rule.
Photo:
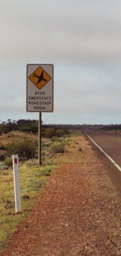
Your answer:
[[[39,90],[41,90],[42,87],[50,81],[51,76],[48,75],[42,67],[38,67],[38,69],[34,70],[28,78],[36,87],[38,87]]]

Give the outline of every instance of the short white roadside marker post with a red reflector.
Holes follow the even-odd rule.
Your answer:
[[[15,185],[15,209],[16,212],[21,211],[21,197],[19,184],[19,160],[18,155],[13,155],[13,176]]]

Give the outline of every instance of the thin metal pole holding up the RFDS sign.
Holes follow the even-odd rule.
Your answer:
[[[38,148],[38,164],[42,165],[42,133],[41,133],[41,123],[42,123],[42,115],[39,112],[39,148]]]

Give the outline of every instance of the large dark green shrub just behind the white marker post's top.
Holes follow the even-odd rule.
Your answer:
[[[33,141],[24,140],[21,142],[12,142],[5,145],[5,150],[7,150],[7,155],[16,155],[28,160],[29,158],[34,158],[36,155],[36,146]]]

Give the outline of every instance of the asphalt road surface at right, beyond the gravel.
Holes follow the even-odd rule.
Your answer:
[[[102,148],[102,150],[108,154],[121,168],[121,134],[114,132],[103,131],[87,131],[87,135],[95,141],[95,143]],[[89,139],[90,140],[90,139]],[[90,140],[93,149],[96,152],[97,157],[104,164],[108,175],[111,178],[111,182],[115,186],[116,190],[121,195],[121,172],[117,167],[111,163],[111,161],[101,152],[98,147]]]

